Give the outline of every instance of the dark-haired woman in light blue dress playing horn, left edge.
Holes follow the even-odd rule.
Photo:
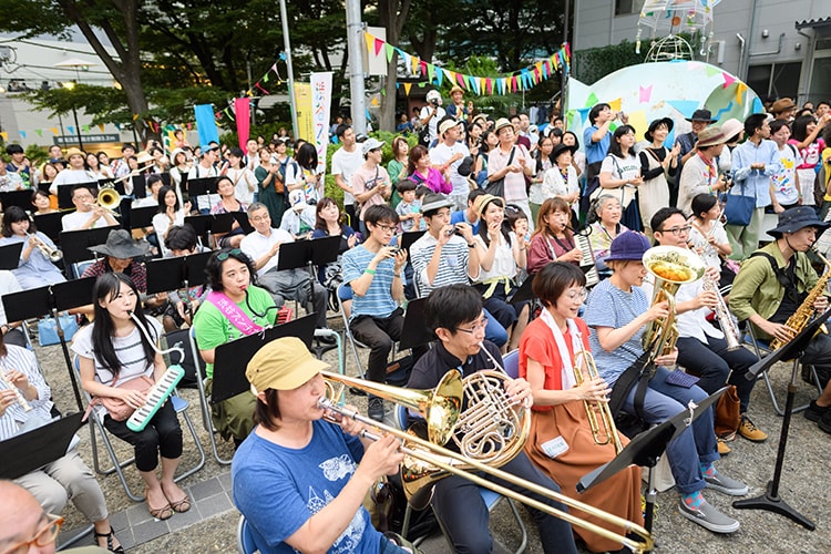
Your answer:
[[[0,246],[23,243],[20,263],[12,270],[23,290],[66,280],[52,263],[53,257],[60,259],[60,250],[35,228],[29,214],[19,206],[10,206],[3,214],[2,235]]]

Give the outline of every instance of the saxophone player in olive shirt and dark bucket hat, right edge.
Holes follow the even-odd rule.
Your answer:
[[[758,338],[773,339],[773,346],[788,342],[813,312],[828,309],[829,273],[818,277],[804,254],[828,226],[817,218],[812,207],[786,209],[779,214],[779,225],[768,232],[776,240],[741,264],[730,291],[730,310],[739,320],[749,320]],[[802,361],[823,368],[831,366],[831,337],[824,334],[814,337]],[[804,414],[831,433],[831,381]]]

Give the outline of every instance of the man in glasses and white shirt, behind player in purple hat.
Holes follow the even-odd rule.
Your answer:
[[[652,219],[655,229],[655,240],[661,246],[687,248],[690,225],[678,208],[661,208]],[[727,442],[736,438],[736,433],[752,442],[765,442],[768,435],[753,424],[747,416],[750,404],[750,391],[756,380],[745,378],[748,368],[759,361],[755,353],[746,348],[731,348],[725,336],[724,328],[716,328],[707,321],[707,316],[719,306],[718,283],[720,271],[708,267],[704,279],[681,285],[675,295],[676,320],[678,326],[678,363],[688,373],[699,377],[698,387],[708,394],[712,394],[725,383],[735,384],[739,396],[739,413],[741,419],[736,430],[720,431],[719,453],[728,454],[730,448]],[[709,281],[709,285],[708,285]],[[644,290],[652,297],[653,284],[644,284]],[[724,306],[724,301],[722,301]],[[732,326],[729,311],[725,314],[720,326]],[[727,332],[733,332],[732,339],[739,340],[735,327]],[[735,343],[733,343],[735,345]],[[720,428],[720,425],[719,425]]]

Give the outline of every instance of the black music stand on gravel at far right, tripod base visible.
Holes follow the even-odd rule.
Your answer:
[[[801,365],[802,356],[804,355],[806,348],[813,339],[813,336],[820,329],[822,324],[831,316],[831,310],[827,310],[810,324],[808,324],[793,339],[784,345],[782,348],[774,350],[772,353],[766,356],[761,360],[757,361],[750,369],[748,369],[746,377],[748,380],[753,380],[759,377],[762,371],[769,370],[773,363],[780,360],[793,359],[793,369],[791,370],[791,379],[788,382],[788,396],[784,401],[784,414],[782,416],[782,430],[779,432],[779,449],[777,450],[777,462],[773,468],[773,479],[768,481],[768,486],[761,496],[755,499],[738,500],[732,503],[732,507],[737,510],[767,510],[769,512],[777,513],[789,517],[794,523],[799,523],[808,531],[813,531],[817,525],[802,515],[801,513],[793,510],[787,502],[779,496],[779,482],[782,478],[782,466],[784,465],[784,451],[788,448],[788,432],[791,427],[791,417],[793,416],[793,398],[797,394],[797,388],[799,383],[799,366]]]

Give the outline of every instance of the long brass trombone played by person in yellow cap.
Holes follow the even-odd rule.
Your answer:
[[[458,371],[449,371],[434,391],[414,391],[400,389],[397,387],[372,383],[365,381],[363,379],[346,377],[341,376],[340,373],[332,373],[328,371],[322,371],[321,375],[324,376],[324,379],[327,383],[327,393],[318,400],[318,407],[325,410],[329,410],[330,412],[338,413],[343,418],[350,418],[359,421],[365,425],[375,429],[377,432],[392,434],[393,437],[397,437],[402,441],[403,444],[401,447],[401,451],[407,455],[407,458],[404,459],[404,463],[401,466],[401,479],[404,483],[404,491],[408,494],[408,499],[411,499],[411,490],[407,486],[408,482],[416,482],[421,484],[423,482],[423,480],[421,480],[422,476],[430,476],[435,473],[440,473],[442,474],[442,476],[447,474],[454,474],[468,479],[476,485],[491,490],[497,494],[510,497],[517,502],[522,502],[523,504],[538,510],[547,515],[551,515],[552,517],[557,517],[572,525],[585,529],[611,541],[619,542],[635,553],[648,552],[653,548],[652,535],[640,525],[637,525],[628,520],[624,520],[623,517],[618,517],[616,515],[604,512],[603,510],[591,506],[583,502],[570,499],[564,494],[554,492],[544,486],[540,486],[535,483],[522,480],[511,473],[499,470],[497,468],[483,463],[479,460],[468,458],[461,453],[444,449],[433,442],[421,439],[407,431],[401,431],[393,427],[386,425],[372,419],[362,417],[356,410],[350,410],[337,406],[335,400],[340,397],[340,392],[336,393],[336,384],[338,386],[340,391],[342,391],[346,387],[355,387],[361,390],[367,390],[367,392],[379,396],[381,398],[390,399],[392,401],[397,401],[397,399],[401,398],[402,400],[399,403],[403,403],[404,406],[409,407],[419,406],[419,411],[422,413],[427,421],[428,430],[430,431],[430,429],[432,428],[434,431],[437,431],[434,437],[441,438],[441,433],[438,433],[438,431],[447,431],[449,428],[452,429],[453,425],[450,422],[459,416],[459,410],[461,409],[461,393],[458,397],[454,396],[454,393],[449,394],[449,391],[445,387],[448,379],[450,379],[451,381],[455,381],[459,379]],[[332,384],[332,382],[336,384]],[[434,401],[437,402],[437,406],[433,406]],[[440,419],[439,414],[441,414],[442,412],[443,418]],[[361,437],[369,440],[379,439],[378,434],[367,430],[363,430],[361,432]],[[409,463],[408,459],[417,460],[421,463],[417,466],[407,466],[407,464]],[[515,486],[521,486],[529,492],[540,494],[555,502],[560,502],[568,506],[570,509],[602,520],[612,526],[620,527],[624,532],[615,533],[614,531],[609,531],[595,523],[577,517],[576,515],[563,512],[541,501],[520,494],[509,489],[507,486],[488,481],[486,479],[475,474],[470,470],[486,473],[488,475],[501,479]],[[434,479],[432,481],[434,481]],[[429,484],[432,484],[432,482]],[[425,488],[432,489],[432,486]],[[427,495],[427,497],[429,500],[429,495]],[[424,504],[424,506],[425,505],[427,504]],[[629,535],[635,535],[640,540],[632,538]]]

